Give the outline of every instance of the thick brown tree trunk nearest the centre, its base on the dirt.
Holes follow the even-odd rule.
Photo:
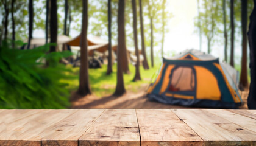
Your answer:
[[[116,83],[116,91],[114,93],[115,96],[121,96],[126,92],[124,88],[124,78],[123,78],[123,69],[122,69],[122,60],[123,60],[123,52],[126,53],[126,33],[124,27],[124,8],[125,8],[125,0],[119,0],[118,2],[118,68],[117,68],[117,83]]]

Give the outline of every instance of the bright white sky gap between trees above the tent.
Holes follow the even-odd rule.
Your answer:
[[[194,32],[194,17],[197,15],[196,0],[169,1],[169,11],[174,15],[169,20],[169,32],[165,37],[164,49],[180,52],[185,49],[199,49],[199,37]]]

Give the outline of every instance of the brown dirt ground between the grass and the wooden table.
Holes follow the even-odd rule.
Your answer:
[[[85,96],[80,99],[74,100],[72,102],[71,108],[193,108],[187,106],[177,106],[177,105],[166,105],[158,102],[151,102],[146,97],[147,85],[142,85],[140,92],[134,93],[127,91],[121,97],[106,96],[106,97],[97,97],[94,95]],[[247,92],[242,93],[243,100],[247,100]],[[240,109],[247,109],[247,102]]]

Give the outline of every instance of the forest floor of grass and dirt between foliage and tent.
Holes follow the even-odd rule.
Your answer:
[[[79,97],[76,94],[79,85],[79,68],[70,66],[74,78],[63,80],[67,83],[71,94],[71,108],[193,108],[187,106],[166,105],[152,102],[146,97],[146,89],[150,82],[154,82],[160,65],[149,70],[140,68],[143,80],[132,82],[135,67],[130,65],[130,74],[124,74],[124,84],[127,92],[121,97],[112,96],[116,86],[116,64],[113,66],[113,74],[106,75],[107,66],[99,69],[89,69],[90,86],[93,94]],[[244,104],[240,109],[247,109],[248,91],[240,92]]]

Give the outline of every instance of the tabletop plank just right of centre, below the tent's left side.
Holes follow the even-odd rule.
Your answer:
[[[141,145],[202,145],[201,137],[170,109],[137,109]]]

